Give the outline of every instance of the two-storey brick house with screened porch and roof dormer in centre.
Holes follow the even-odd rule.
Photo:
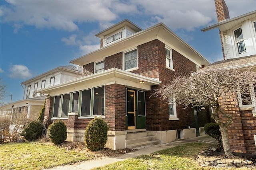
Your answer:
[[[163,23],[142,30],[123,20],[96,36],[100,49],[70,61],[83,66],[82,78],[37,91],[50,95],[48,126],[62,119],[67,140],[84,141],[89,121],[102,116],[110,127],[106,146],[112,149],[204,135],[202,127],[210,121],[207,108],[197,113],[152,96],[174,76],[209,65],[202,55]]]

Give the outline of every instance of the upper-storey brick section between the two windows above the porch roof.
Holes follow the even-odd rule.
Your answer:
[[[123,69],[123,63],[122,63],[122,59],[123,59],[123,53],[117,53],[114,55],[111,55],[109,57],[105,58],[105,70],[108,70],[110,68],[119,68],[119,69]]]

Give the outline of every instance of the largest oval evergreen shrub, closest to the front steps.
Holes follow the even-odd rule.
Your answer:
[[[84,133],[85,145],[88,149],[96,151],[104,149],[108,140],[108,125],[102,117],[95,117],[86,127]]]

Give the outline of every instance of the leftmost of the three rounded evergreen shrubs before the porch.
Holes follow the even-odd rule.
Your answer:
[[[31,121],[20,135],[28,141],[34,141],[41,136],[42,130],[43,126],[39,121]]]

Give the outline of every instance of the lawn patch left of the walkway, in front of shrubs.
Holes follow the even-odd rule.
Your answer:
[[[4,170],[40,170],[93,158],[87,152],[66,150],[52,143],[27,142],[0,145],[0,169]]]

